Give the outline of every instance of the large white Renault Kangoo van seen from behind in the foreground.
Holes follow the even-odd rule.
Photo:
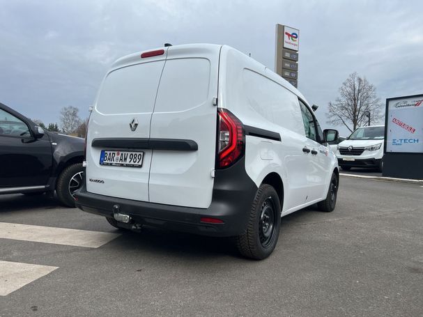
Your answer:
[[[235,236],[266,258],[280,217],[332,211],[337,159],[304,96],[226,45],[178,45],[118,59],[89,119],[82,210],[119,228]]]

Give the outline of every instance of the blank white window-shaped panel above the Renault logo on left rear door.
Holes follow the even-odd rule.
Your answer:
[[[119,68],[107,75],[96,109],[102,114],[140,114],[153,111],[164,61]]]

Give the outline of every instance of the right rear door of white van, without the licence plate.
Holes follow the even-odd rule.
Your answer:
[[[169,47],[151,118],[152,203],[208,208],[215,168],[220,45]]]

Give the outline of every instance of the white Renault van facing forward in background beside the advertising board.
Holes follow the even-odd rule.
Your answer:
[[[383,169],[383,142],[385,127],[373,125],[359,127],[345,141],[337,146],[337,159],[341,169],[368,167]]]

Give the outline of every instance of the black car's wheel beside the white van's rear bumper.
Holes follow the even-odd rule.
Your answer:
[[[56,193],[59,201],[66,207],[75,207],[72,194],[82,186],[82,163],[72,164],[61,172],[56,183]]]

